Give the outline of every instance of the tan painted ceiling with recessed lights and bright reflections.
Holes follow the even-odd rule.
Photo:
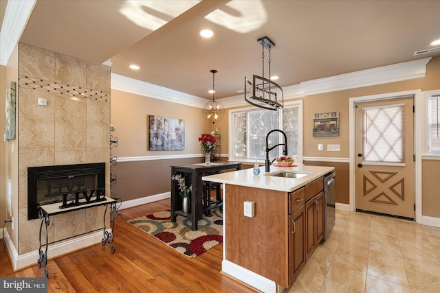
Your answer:
[[[131,4],[148,28],[122,14]],[[203,28],[214,36],[202,39]],[[272,75],[289,86],[440,56],[413,56],[440,38],[440,1],[39,0],[20,41],[96,64],[110,59],[113,73],[210,99],[210,69],[219,71],[216,98],[262,75],[263,36],[275,43]]]

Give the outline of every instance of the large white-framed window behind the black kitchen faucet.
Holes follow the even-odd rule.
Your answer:
[[[282,111],[261,108],[241,108],[230,111],[230,159],[255,161],[265,159],[266,135],[270,130],[281,129],[287,136],[287,155],[302,160],[303,103],[285,103]],[[272,132],[269,147],[283,142],[280,132]],[[270,159],[282,156],[282,148],[270,151]]]

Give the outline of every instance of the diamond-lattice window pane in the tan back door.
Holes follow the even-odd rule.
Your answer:
[[[371,163],[405,163],[404,104],[362,108],[363,156]]]

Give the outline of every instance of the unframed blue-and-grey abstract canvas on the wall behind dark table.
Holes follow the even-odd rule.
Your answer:
[[[185,150],[185,120],[148,116],[148,150]]]

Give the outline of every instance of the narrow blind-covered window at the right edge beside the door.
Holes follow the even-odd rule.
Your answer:
[[[440,93],[428,95],[428,136],[430,152],[440,152]]]

